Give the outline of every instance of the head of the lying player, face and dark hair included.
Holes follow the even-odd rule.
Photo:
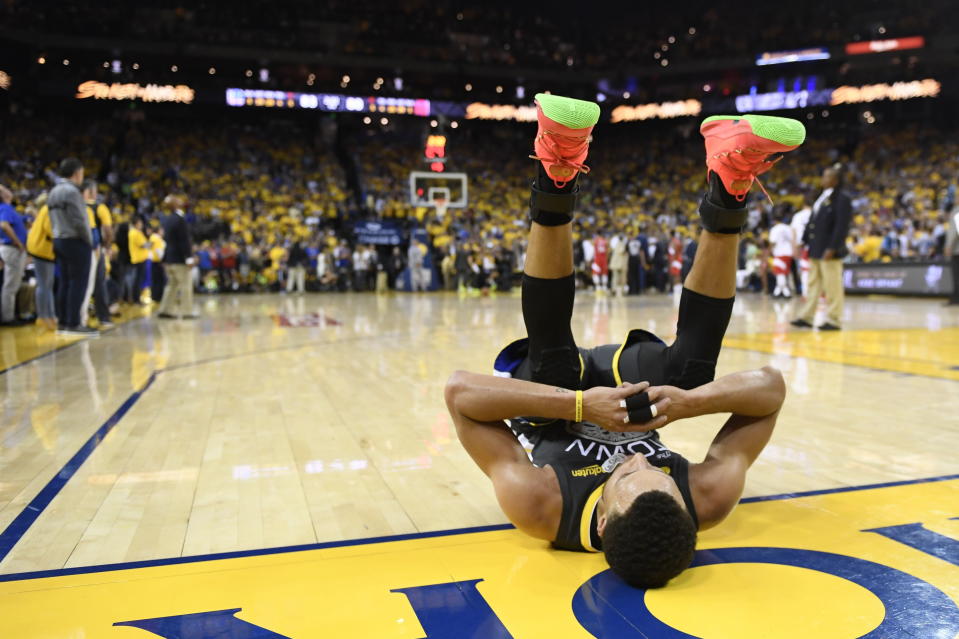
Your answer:
[[[693,560],[696,526],[679,487],[642,455],[613,471],[597,508],[606,561],[626,583],[665,586]]]

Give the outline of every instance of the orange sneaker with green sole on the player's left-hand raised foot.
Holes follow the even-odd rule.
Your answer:
[[[536,119],[539,122],[534,142],[536,153],[530,158],[543,163],[553,184],[563,188],[578,173],[589,173],[589,167],[583,162],[589,152],[590,134],[599,120],[599,105],[538,93]]]

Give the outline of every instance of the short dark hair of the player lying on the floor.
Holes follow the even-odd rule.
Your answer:
[[[645,492],[609,518],[603,552],[613,572],[636,588],[659,588],[689,567],[696,551],[692,518],[661,490]]]

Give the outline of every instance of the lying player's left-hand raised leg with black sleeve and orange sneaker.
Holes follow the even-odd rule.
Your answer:
[[[539,94],[539,128],[534,143],[539,160],[530,195],[532,220],[523,267],[523,320],[529,335],[533,381],[575,388],[580,362],[570,329],[573,316],[573,211],[579,173],[589,151],[599,105]]]

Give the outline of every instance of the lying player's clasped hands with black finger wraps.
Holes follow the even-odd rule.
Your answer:
[[[655,387],[654,391],[671,388]],[[649,382],[623,383],[616,388],[596,386],[583,393],[583,419],[610,431],[647,431],[665,426],[672,398],[647,392]],[[676,389],[679,390],[679,389]],[[631,399],[632,398],[632,399]],[[632,419],[631,419],[632,417]],[[637,419],[641,418],[642,423]]]

